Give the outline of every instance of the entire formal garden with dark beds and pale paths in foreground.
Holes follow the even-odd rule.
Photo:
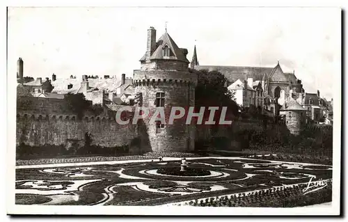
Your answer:
[[[328,165],[241,157],[47,163],[16,167],[15,200],[19,205],[298,207],[331,202],[331,178]],[[321,182],[322,189],[306,193],[310,181]]]

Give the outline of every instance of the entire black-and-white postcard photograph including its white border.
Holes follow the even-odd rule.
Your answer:
[[[340,214],[341,19],[8,7],[8,214]]]

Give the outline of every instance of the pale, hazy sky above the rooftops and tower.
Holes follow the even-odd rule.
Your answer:
[[[191,61],[295,70],[308,93],[332,97],[340,75],[340,10],[328,8],[9,8],[8,74],[132,77],[147,29],[165,31]],[[196,40],[196,41],[195,41]]]

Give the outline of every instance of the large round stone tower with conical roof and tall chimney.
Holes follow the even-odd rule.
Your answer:
[[[172,106],[188,111],[194,106],[196,74],[188,72],[187,49],[177,47],[166,32],[156,41],[156,30],[148,29],[148,44],[141,58],[141,70],[134,70],[135,93],[141,94],[142,106],[164,107],[166,122],[149,122],[144,118],[152,151],[189,152],[194,149],[195,125],[186,125],[186,118],[168,124]]]

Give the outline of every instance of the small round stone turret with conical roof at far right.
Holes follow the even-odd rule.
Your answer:
[[[290,130],[291,134],[298,135],[301,126],[306,121],[306,109],[296,102],[292,97],[290,100],[285,103],[285,107],[283,109],[285,111],[285,123],[287,125],[287,129]]]

